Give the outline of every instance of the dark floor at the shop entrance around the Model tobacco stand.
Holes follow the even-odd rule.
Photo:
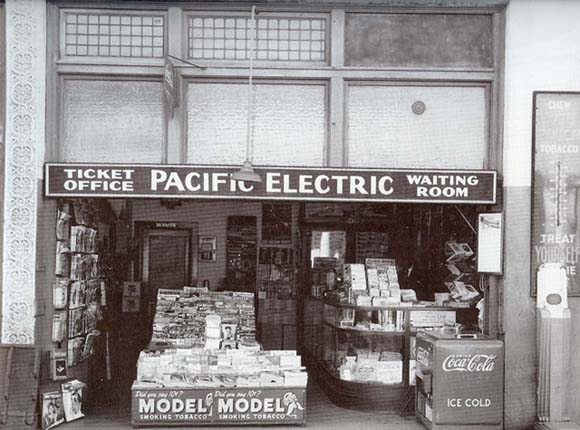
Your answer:
[[[63,425],[63,430],[112,430],[130,429],[130,410],[117,407],[101,411],[91,411],[79,421]],[[244,430],[263,429],[264,427],[240,426]],[[421,430],[424,429],[414,417],[402,418],[398,414],[359,412],[340,408],[331,403],[324,393],[314,384],[309,383],[307,396],[306,427],[309,429],[327,430]],[[165,427],[155,427],[161,430]],[[173,427],[175,429],[175,427]],[[196,427],[201,429],[203,427]],[[205,427],[216,430],[224,427]],[[230,427],[234,428],[234,427]],[[290,429],[297,427],[270,426],[271,429]]]

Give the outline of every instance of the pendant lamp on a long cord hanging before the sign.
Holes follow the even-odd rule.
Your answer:
[[[262,182],[262,178],[252,167],[252,156],[254,151],[254,111],[256,98],[254,93],[254,57],[256,55],[256,6],[252,6],[250,18],[250,67],[248,78],[248,119],[246,127],[246,160],[244,165],[232,174],[235,181]]]

